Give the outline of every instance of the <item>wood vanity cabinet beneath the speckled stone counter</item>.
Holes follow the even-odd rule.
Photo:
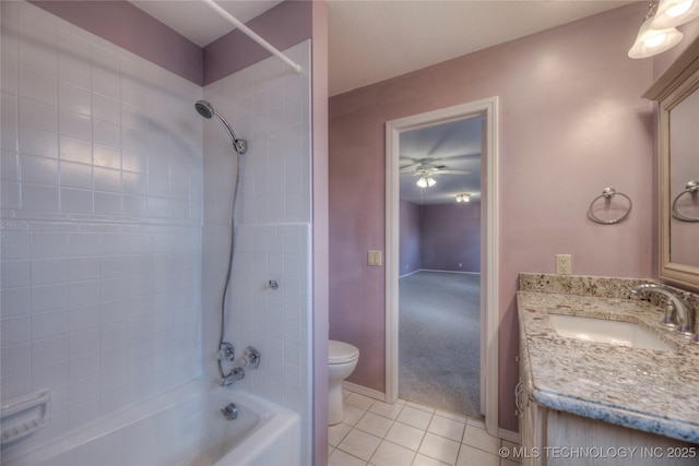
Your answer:
[[[699,465],[697,444],[541,406],[528,385],[520,379],[520,447],[510,452],[522,466]]]

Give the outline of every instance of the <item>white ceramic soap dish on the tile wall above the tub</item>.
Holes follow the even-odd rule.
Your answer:
[[[3,404],[0,444],[16,442],[44,428],[50,417],[50,402],[51,392],[44,390]]]

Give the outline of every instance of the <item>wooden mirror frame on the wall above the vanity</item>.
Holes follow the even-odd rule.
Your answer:
[[[699,89],[699,37],[670,65],[643,97],[659,104],[659,277],[699,290],[699,266],[672,262],[670,234],[670,111]],[[698,226],[699,227],[699,226]]]

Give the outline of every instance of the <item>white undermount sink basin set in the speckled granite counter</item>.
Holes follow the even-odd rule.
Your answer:
[[[548,316],[558,335],[568,338],[660,351],[675,350],[656,335],[631,322],[562,314],[548,314]]]

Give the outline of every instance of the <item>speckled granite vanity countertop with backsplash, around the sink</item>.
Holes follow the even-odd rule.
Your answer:
[[[699,443],[699,345],[664,330],[664,311],[629,291],[649,282],[521,274],[521,377],[548,408]],[[549,313],[633,322],[676,353],[562,337]]]

